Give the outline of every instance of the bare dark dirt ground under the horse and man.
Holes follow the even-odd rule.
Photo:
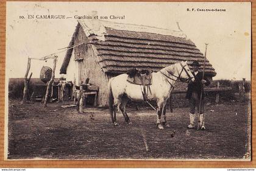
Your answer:
[[[167,110],[171,127],[158,130],[154,110],[128,108],[132,125],[118,113],[113,127],[106,109],[61,105],[9,100],[8,159],[242,159],[249,150],[246,104],[207,105],[205,131],[187,129],[188,108]]]

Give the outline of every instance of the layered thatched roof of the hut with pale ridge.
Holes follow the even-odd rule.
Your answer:
[[[101,33],[95,33],[93,29],[88,31],[84,20],[79,21],[80,27],[87,29],[85,34],[90,43],[93,43],[91,46],[96,49],[104,72],[123,73],[130,68],[151,68],[153,71],[159,71],[180,61],[188,60],[188,64],[198,61],[201,65],[204,62],[204,55],[180,31],[130,24],[126,29],[126,24],[119,24],[121,25],[119,26],[105,21],[102,23],[105,26],[99,24],[99,29],[96,29],[101,30]],[[68,56],[71,55],[66,55]],[[67,59],[63,64],[66,64],[66,61]],[[208,60],[205,72],[211,77],[216,75],[215,69]],[[61,69],[61,74],[63,73],[65,73],[65,65]]]

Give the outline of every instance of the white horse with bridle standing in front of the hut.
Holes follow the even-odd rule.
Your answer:
[[[119,106],[123,113],[124,119],[127,124],[130,124],[130,119],[126,113],[126,103],[130,99],[135,102],[143,101],[143,94],[141,86],[127,82],[127,74],[121,74],[113,77],[108,82],[108,97],[110,116],[113,124],[116,126],[116,109]],[[182,79],[193,80],[194,76],[188,68],[187,61],[175,63],[174,65],[167,66],[158,72],[152,72],[152,84],[148,93],[149,100],[156,100],[157,102],[157,126],[163,129],[166,124],[165,106],[166,101],[169,99],[174,83],[176,80]],[[163,115],[162,122],[161,116]],[[166,124],[169,126],[169,124]]]

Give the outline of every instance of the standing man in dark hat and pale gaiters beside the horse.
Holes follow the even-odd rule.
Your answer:
[[[201,96],[202,84],[206,86],[210,85],[210,81],[208,79],[202,79],[202,72],[199,72],[199,63],[197,61],[193,61],[192,66],[192,74],[194,75],[194,82],[188,83],[188,90],[186,98],[190,102],[190,125],[188,128],[194,128],[194,119],[196,117],[196,108],[197,112],[200,113],[200,128],[201,130],[205,130],[204,126],[204,90],[202,92],[202,103],[201,103],[201,111],[199,111],[199,103]]]

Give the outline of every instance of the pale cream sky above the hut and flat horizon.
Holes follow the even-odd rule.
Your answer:
[[[187,9],[190,9],[188,11]],[[194,10],[193,10],[194,9]],[[197,9],[225,9],[204,12]],[[139,24],[163,29],[180,29],[215,68],[213,78],[251,79],[250,2],[7,2],[6,77],[24,77],[27,58],[40,58],[68,46],[77,25],[75,15],[125,16],[107,19],[116,23]],[[65,15],[68,19],[28,19],[27,15]],[[24,19],[22,18],[24,16]],[[58,54],[55,77],[60,77],[65,52]],[[32,60],[32,77],[52,60]]]

